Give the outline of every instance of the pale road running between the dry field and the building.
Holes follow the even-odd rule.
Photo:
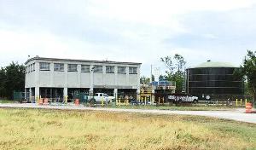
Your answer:
[[[37,104],[0,104],[0,107],[19,107],[19,108],[44,108],[61,110],[92,110],[106,112],[127,112],[127,113],[155,113],[155,114],[182,114],[207,116],[213,118],[225,118],[241,122],[256,124],[256,113],[244,113],[245,109],[233,111],[172,111],[172,110],[145,110],[145,109],[120,109],[105,107],[83,107],[83,106],[38,106]]]

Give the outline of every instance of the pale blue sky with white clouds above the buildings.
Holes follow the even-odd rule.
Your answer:
[[[183,55],[239,66],[256,48],[254,0],[0,0],[0,66],[34,57],[143,63]]]

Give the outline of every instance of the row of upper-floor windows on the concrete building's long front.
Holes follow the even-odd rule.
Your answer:
[[[47,62],[40,62],[40,71],[49,71],[49,64]],[[54,64],[55,72],[64,72],[64,64],[55,63]],[[77,64],[67,64],[67,72],[77,72]],[[94,66],[91,70],[92,72],[103,72],[102,66]],[[81,65],[81,72],[90,72],[90,65]],[[106,73],[114,73],[114,66],[106,66]],[[125,66],[118,66],[118,73],[125,74]],[[129,67],[130,74],[137,74],[137,67]]]

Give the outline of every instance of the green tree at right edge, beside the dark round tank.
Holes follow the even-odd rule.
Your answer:
[[[256,100],[256,51],[247,50],[242,65],[234,72],[236,77],[247,80],[248,88],[253,94],[253,102]]]

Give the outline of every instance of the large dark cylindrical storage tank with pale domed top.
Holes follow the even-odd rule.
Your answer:
[[[207,61],[187,69],[187,93],[200,98],[209,96],[243,95],[244,82],[233,73],[236,66],[224,62]]]

